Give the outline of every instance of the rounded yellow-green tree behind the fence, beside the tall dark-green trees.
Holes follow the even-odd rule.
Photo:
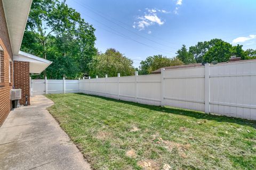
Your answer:
[[[116,77],[117,73],[121,76],[131,76],[135,71],[132,63],[131,59],[126,58],[119,51],[109,48],[105,53],[99,53],[93,58],[90,76],[104,77],[107,74],[109,77]]]

